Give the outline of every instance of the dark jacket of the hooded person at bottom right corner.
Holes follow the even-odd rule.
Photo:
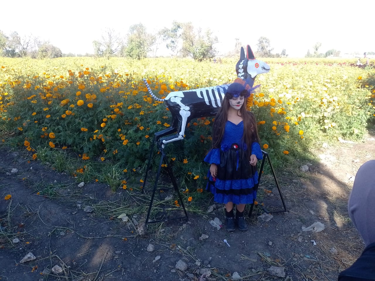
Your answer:
[[[375,280],[375,243],[368,245],[353,265],[340,272],[338,281]]]

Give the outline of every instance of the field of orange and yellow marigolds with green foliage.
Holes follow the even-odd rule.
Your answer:
[[[276,166],[314,157],[314,147],[338,137],[360,140],[374,121],[374,68],[354,67],[349,60],[264,61],[271,71],[257,76],[261,88],[248,108],[257,117],[261,146]],[[154,133],[171,120],[142,78],[156,96],[165,97],[229,83],[236,78],[236,62],[5,58],[0,64],[2,142],[22,146],[30,161],[48,161],[85,182],[126,189],[127,181],[143,175]],[[213,118],[193,120],[185,139],[165,149],[180,184],[194,183],[198,192],[205,185],[208,166],[202,159],[210,149],[212,123]],[[153,163],[156,169],[159,158]]]

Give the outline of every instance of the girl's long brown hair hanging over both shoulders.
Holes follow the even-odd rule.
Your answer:
[[[246,154],[250,158],[251,144],[260,142],[257,130],[257,121],[253,112],[246,109],[247,99],[244,100],[243,106],[239,109],[240,116],[243,118],[243,136],[242,143],[246,143],[248,149]],[[220,148],[223,139],[226,121],[228,121],[229,96],[224,96],[222,106],[217,112],[212,130],[212,148]]]

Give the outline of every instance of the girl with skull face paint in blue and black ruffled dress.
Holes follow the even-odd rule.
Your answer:
[[[243,211],[253,203],[258,183],[257,161],[263,159],[254,113],[246,109],[252,89],[242,84],[229,85],[215,117],[212,148],[204,158],[211,164],[207,189],[214,201],[225,204],[226,230],[247,230]],[[236,219],[233,205],[236,204]]]

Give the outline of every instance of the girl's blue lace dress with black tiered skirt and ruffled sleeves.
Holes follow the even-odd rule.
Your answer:
[[[257,197],[254,185],[258,183],[256,166],[249,164],[246,157],[246,143],[242,143],[243,121],[234,124],[227,121],[220,148],[208,151],[204,161],[217,165],[217,177],[212,178],[208,170],[207,190],[214,195],[217,203],[233,202],[234,204],[253,203]],[[251,154],[258,160],[263,159],[262,151],[256,136],[251,144]]]

